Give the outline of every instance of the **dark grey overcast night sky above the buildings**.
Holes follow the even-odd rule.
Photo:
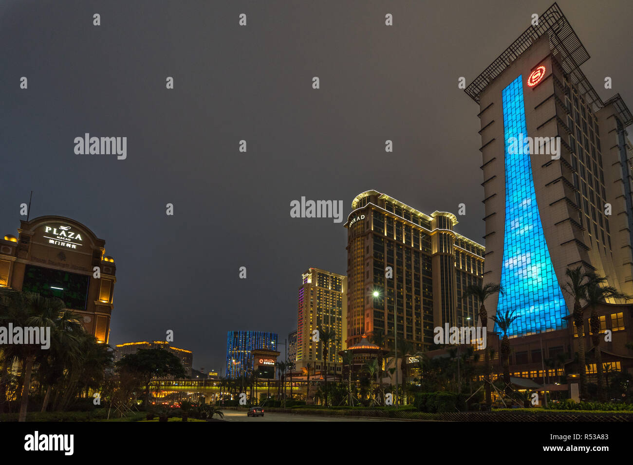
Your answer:
[[[4,0],[0,233],[34,190],[31,218],[74,218],[115,257],[111,345],[173,330],[195,368],[219,369],[227,330],[296,328],[304,270],[346,273],[342,223],[291,218],[294,199],[345,216],[368,189],[425,213],[464,202],[457,230],[482,242],[479,108],[457,80],[550,4]],[[633,108],[630,1],[559,5],[598,94]],[[127,137],[127,159],[76,155],[86,132]]]

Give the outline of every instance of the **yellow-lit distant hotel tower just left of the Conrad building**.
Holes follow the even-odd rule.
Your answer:
[[[301,275],[298,302],[296,369],[323,369],[323,343],[313,342],[313,330],[334,333],[327,354],[329,370],[341,373],[341,356],[346,335],[347,278],[331,271],[310,268]]]

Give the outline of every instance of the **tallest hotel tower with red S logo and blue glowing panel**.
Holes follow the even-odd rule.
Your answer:
[[[587,59],[553,4],[465,90],[480,109],[484,282],[505,290],[489,297],[489,321],[480,324],[492,328],[495,313],[516,312],[509,335],[522,373],[534,374],[542,357],[563,352],[567,372],[578,373],[573,298],[561,288],[568,268],[595,271],[633,294],[633,150],[625,130],[633,118],[618,94],[598,96],[580,70]],[[534,143],[519,142],[517,152],[515,141],[527,137]],[[560,152],[543,154],[552,140],[560,140]],[[613,340],[601,344],[605,366],[633,366],[625,345],[631,311],[621,302],[601,306],[601,326],[613,330]]]

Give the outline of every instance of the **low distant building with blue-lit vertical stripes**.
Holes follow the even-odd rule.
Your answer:
[[[251,350],[277,350],[277,333],[229,331],[227,334],[227,378],[241,378],[253,369]]]

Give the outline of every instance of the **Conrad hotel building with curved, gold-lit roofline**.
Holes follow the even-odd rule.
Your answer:
[[[479,305],[461,294],[481,284],[484,246],[454,231],[452,213],[422,213],[389,195],[356,196],[348,229],[348,347],[363,334],[394,334],[417,352],[434,328],[473,326]],[[397,316],[397,317],[396,317]]]

